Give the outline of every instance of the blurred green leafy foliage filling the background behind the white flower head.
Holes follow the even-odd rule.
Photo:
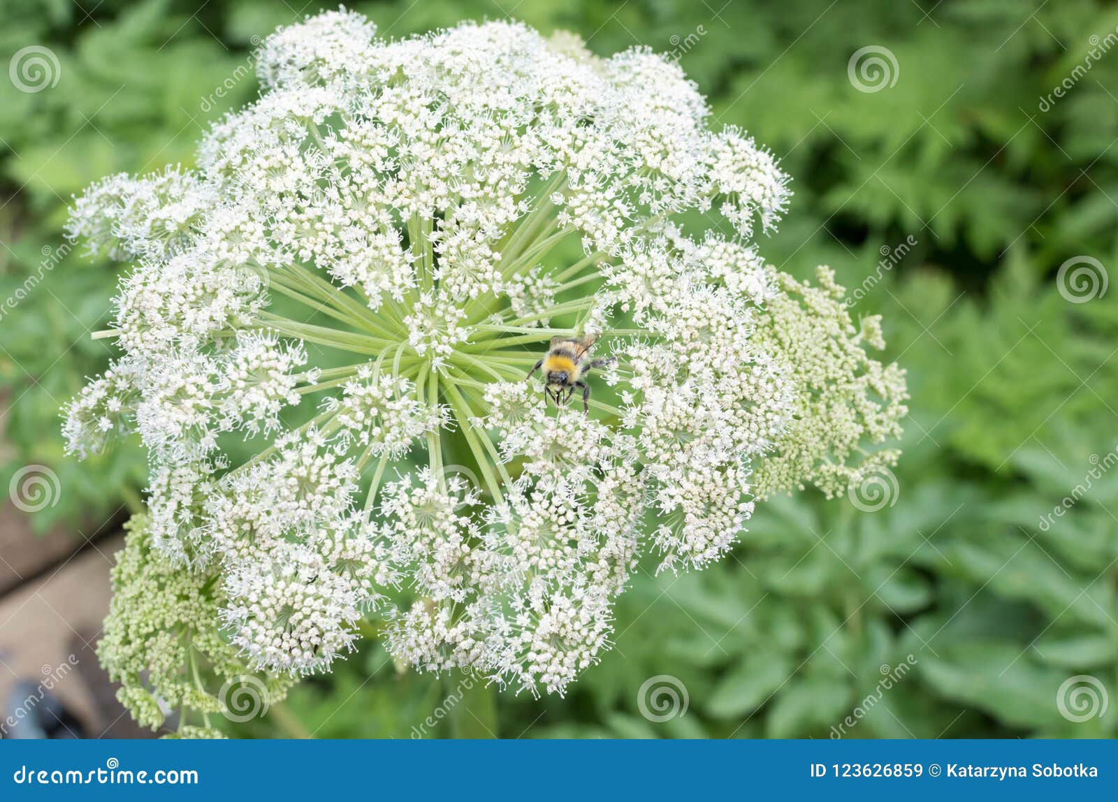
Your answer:
[[[420,734],[477,732],[481,719],[505,737],[827,737],[860,709],[847,737],[1118,735],[1118,470],[1092,478],[1118,446],[1118,302],[1111,290],[1073,304],[1055,283],[1071,257],[1118,261],[1118,52],[1043,102],[1084,63],[1090,37],[1115,30],[1118,9],[718,6],[540,0],[514,13],[578,31],[598,52],[674,50],[722,123],[781,156],[796,197],[764,254],[803,277],[831,264],[860,288],[855,318],[884,315],[888,359],[909,372],[894,504],[775,499],[735,558],[641,577],[618,610],[617,648],[567,698],[502,695],[495,719],[492,693],[447,710],[461,677],[400,674],[368,643],[292,691],[290,712],[319,736],[408,737],[437,709]],[[502,16],[492,0],[358,10],[390,36]],[[61,69],[37,94],[0,80],[0,298],[40,271],[44,247],[60,246],[69,193],[108,172],[187,162],[207,122],[255,93],[252,37],[293,17],[265,0],[108,0],[92,18],[68,2],[8,0],[0,16],[4,63],[44,44]],[[863,93],[849,79],[868,45],[894,55],[891,88]],[[882,248],[902,258],[882,269]],[[101,299],[115,283],[78,257],[46,270],[0,322],[0,481],[38,462],[64,488],[39,525],[103,517],[143,475],[136,450],[83,466],[61,455],[57,405],[104,365],[107,349],[88,332],[107,321]],[[875,698],[881,667],[910,655],[911,671]],[[664,674],[686,688],[689,709],[651,722],[637,691]],[[1081,674],[1111,704],[1074,723],[1057,693]],[[273,734],[269,720],[240,734]]]

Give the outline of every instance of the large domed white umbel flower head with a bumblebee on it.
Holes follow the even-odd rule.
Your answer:
[[[562,693],[639,563],[701,569],[766,496],[896,459],[879,321],[765,264],[787,176],[671,60],[343,10],[258,73],[196,170],[78,199],[129,268],[65,422],[78,455],[142,439],[144,554],[249,669],[328,669],[372,617],[419,669]],[[528,378],[552,337],[615,357],[588,412]]]

